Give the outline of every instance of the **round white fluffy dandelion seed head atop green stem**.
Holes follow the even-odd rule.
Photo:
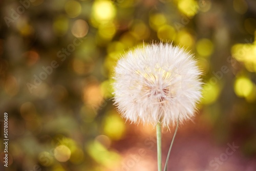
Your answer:
[[[163,126],[194,116],[201,98],[201,71],[193,55],[171,44],[153,44],[126,53],[117,62],[114,104],[132,122]]]

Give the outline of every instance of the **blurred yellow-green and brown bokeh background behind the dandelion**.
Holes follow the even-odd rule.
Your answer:
[[[205,73],[168,170],[256,170],[255,1],[2,0],[0,12],[0,170],[157,170],[156,130],[120,118],[111,77],[120,54],[160,40]]]

